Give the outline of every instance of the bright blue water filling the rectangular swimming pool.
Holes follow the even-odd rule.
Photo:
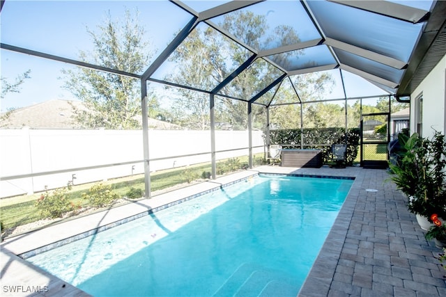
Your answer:
[[[351,179],[247,179],[27,259],[93,296],[296,296]]]

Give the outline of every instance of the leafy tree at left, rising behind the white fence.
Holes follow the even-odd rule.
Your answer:
[[[79,51],[79,60],[130,73],[144,72],[151,58],[149,43],[144,41],[144,28],[135,15],[125,11],[122,20],[114,21],[110,14],[98,30],[87,28],[94,49]],[[93,61],[91,61],[93,60]],[[141,91],[139,79],[79,67],[63,70],[65,87],[84,102],[85,109],[75,109],[75,120],[81,127],[134,129],[141,127]],[[158,107],[150,95],[149,110]],[[150,113],[149,113],[150,114]]]

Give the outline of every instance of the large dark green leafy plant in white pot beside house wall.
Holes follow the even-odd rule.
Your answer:
[[[390,163],[394,172],[391,179],[408,196],[408,210],[430,221],[432,214],[446,218],[446,143],[445,136],[435,131],[433,138],[422,138],[413,134],[410,138],[401,136],[399,161]],[[423,226],[428,230],[429,225]]]

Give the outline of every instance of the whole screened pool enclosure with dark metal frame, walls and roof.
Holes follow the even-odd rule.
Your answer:
[[[408,107],[444,10],[442,1],[1,1],[2,81],[31,70],[20,91],[2,89],[2,127],[17,128],[9,111],[59,98],[74,102],[71,129],[141,130],[143,144],[130,159],[55,162],[37,173],[14,166],[2,180],[118,163],[144,172],[150,197],[151,172],[165,160],[202,156],[215,178],[230,151],[252,168],[271,144],[332,144],[273,143],[272,131],[283,129],[358,129],[357,162],[386,161],[391,115]],[[201,136],[176,134],[157,141],[152,120],[203,131],[207,143],[189,150]],[[229,145],[236,134],[244,141]]]

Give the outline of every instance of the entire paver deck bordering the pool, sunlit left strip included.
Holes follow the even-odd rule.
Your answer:
[[[440,250],[424,239],[424,231],[406,208],[406,198],[392,182],[386,182],[389,178],[386,170],[263,166],[253,171],[355,177],[351,191],[300,290],[300,297],[446,296],[443,279],[446,271],[434,258]],[[232,177],[223,177],[220,182],[230,182],[231,178],[238,179],[254,172],[240,172]],[[197,185],[196,193],[215,186],[215,182]],[[125,218],[144,211],[149,204],[154,207],[161,200],[181,199],[181,195],[192,190],[193,186],[143,202],[147,205],[128,205],[116,211],[79,218],[79,222],[70,221],[6,240],[1,244],[0,252],[2,296],[88,296],[16,255],[60,240],[59,236],[73,236],[90,230],[91,225],[100,227],[118,220],[118,216]],[[85,230],[80,230],[82,228]],[[53,235],[49,236],[48,232]],[[29,294],[5,292],[5,285],[22,286],[22,290],[36,289],[37,285],[41,287],[38,287],[39,292]]]

